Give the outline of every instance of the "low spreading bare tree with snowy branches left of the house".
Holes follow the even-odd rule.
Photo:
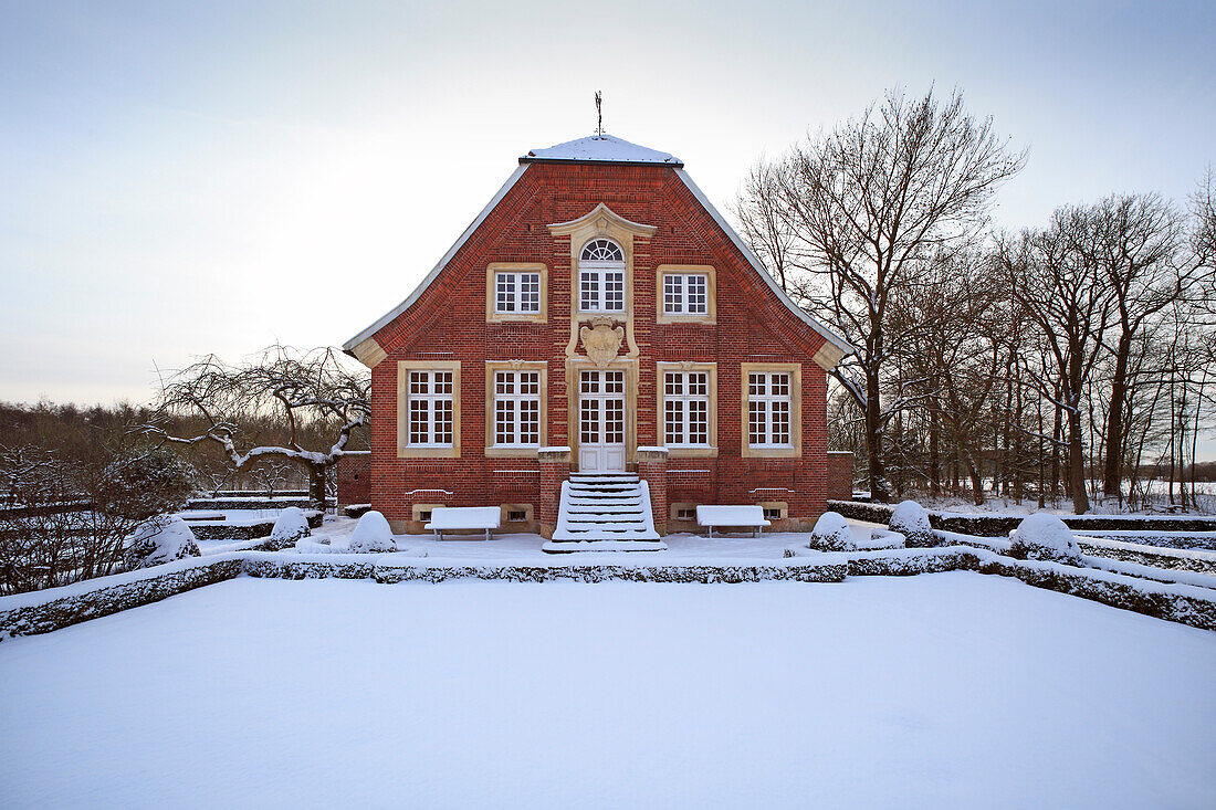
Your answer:
[[[243,365],[213,355],[181,370],[162,384],[158,414],[203,417],[206,429],[195,435],[171,434],[163,418],[145,431],[165,444],[218,445],[237,473],[268,457],[299,465],[309,476],[310,499],[325,508],[330,467],[371,417],[371,379],[332,349],[272,345]],[[283,426],[285,440],[258,444],[247,426],[259,420]],[[309,440],[316,449],[304,446]]]

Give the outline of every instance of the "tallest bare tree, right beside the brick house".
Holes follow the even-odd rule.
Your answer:
[[[790,265],[812,280],[804,305],[857,349],[832,373],[865,415],[876,500],[889,499],[883,435],[906,406],[899,392],[883,400],[884,370],[903,337],[889,331],[891,300],[931,255],[983,226],[993,192],[1023,162],[991,119],[967,113],[961,92],[939,102],[931,90],[916,100],[893,91],[754,170],[744,189],[741,212],[779,212],[794,235]],[[772,260],[767,220],[760,224],[744,231]]]

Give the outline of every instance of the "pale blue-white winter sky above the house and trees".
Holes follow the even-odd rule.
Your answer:
[[[1008,227],[1216,163],[1214,2],[0,0],[0,400],[338,345],[529,148],[607,131],[725,208],[891,86],[958,86],[1026,169]]]

